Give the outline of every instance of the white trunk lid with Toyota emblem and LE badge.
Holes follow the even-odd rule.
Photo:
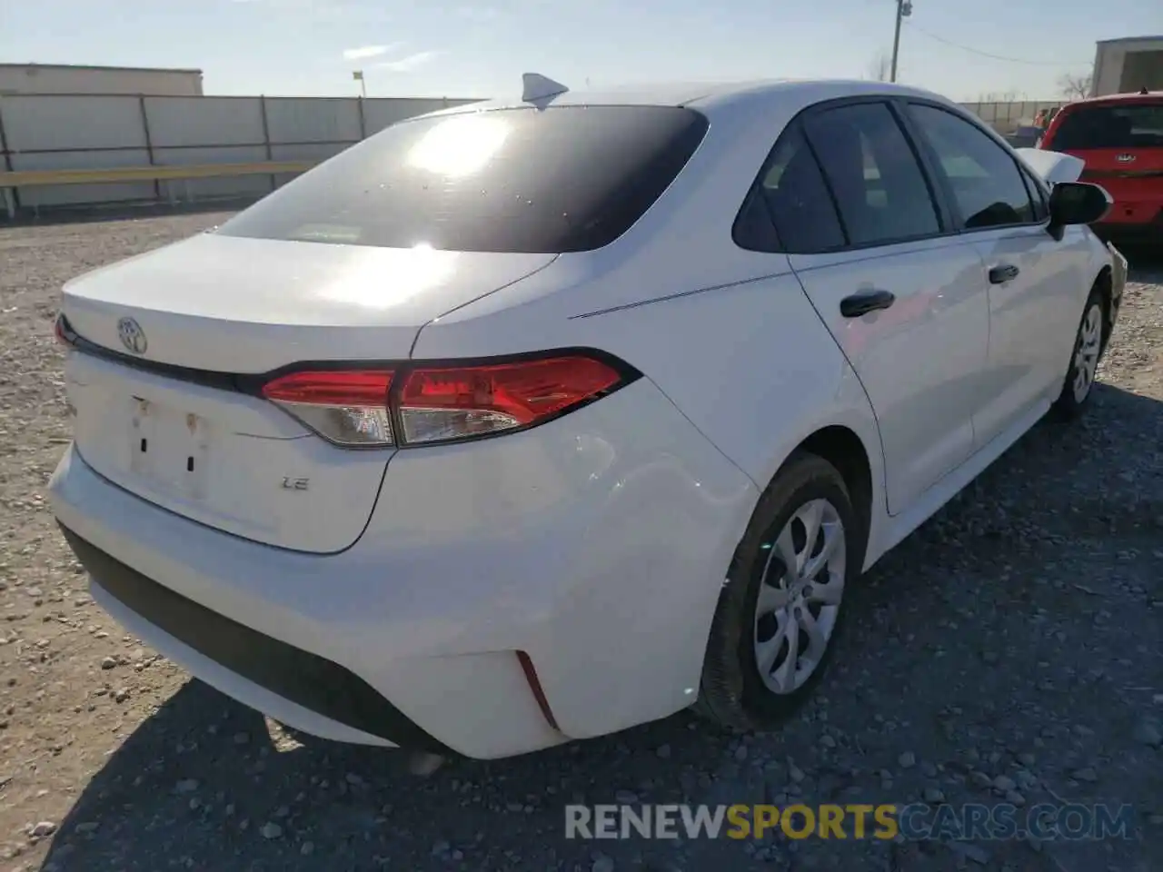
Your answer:
[[[407,359],[424,323],[552,259],[208,234],[98,270],[62,306],[80,339],[65,364],[77,450],[215,529],[343,550],[393,450],[334,445],[252,388],[299,363]]]

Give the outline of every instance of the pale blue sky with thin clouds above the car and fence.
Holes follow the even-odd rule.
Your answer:
[[[872,77],[894,0],[0,0],[0,62],[184,66],[209,94],[493,97],[536,71],[623,83]],[[901,81],[1059,95],[1094,41],[1163,34],[1163,0],[913,0]],[[989,57],[997,56],[997,57]],[[1001,59],[1005,58],[1005,59]]]

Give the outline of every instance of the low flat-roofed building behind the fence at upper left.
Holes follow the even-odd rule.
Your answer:
[[[5,94],[164,94],[201,97],[201,70],[79,64],[0,64]]]

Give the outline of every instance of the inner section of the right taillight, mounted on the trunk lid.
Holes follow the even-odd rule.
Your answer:
[[[393,443],[391,387],[384,370],[292,372],[267,381],[263,396],[336,445],[380,448]]]

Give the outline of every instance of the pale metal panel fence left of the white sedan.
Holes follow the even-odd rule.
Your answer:
[[[299,97],[0,97],[0,170],[322,160],[402,119],[473,100]],[[262,195],[286,177],[44,185],[26,208]],[[179,191],[171,186],[179,186]]]

